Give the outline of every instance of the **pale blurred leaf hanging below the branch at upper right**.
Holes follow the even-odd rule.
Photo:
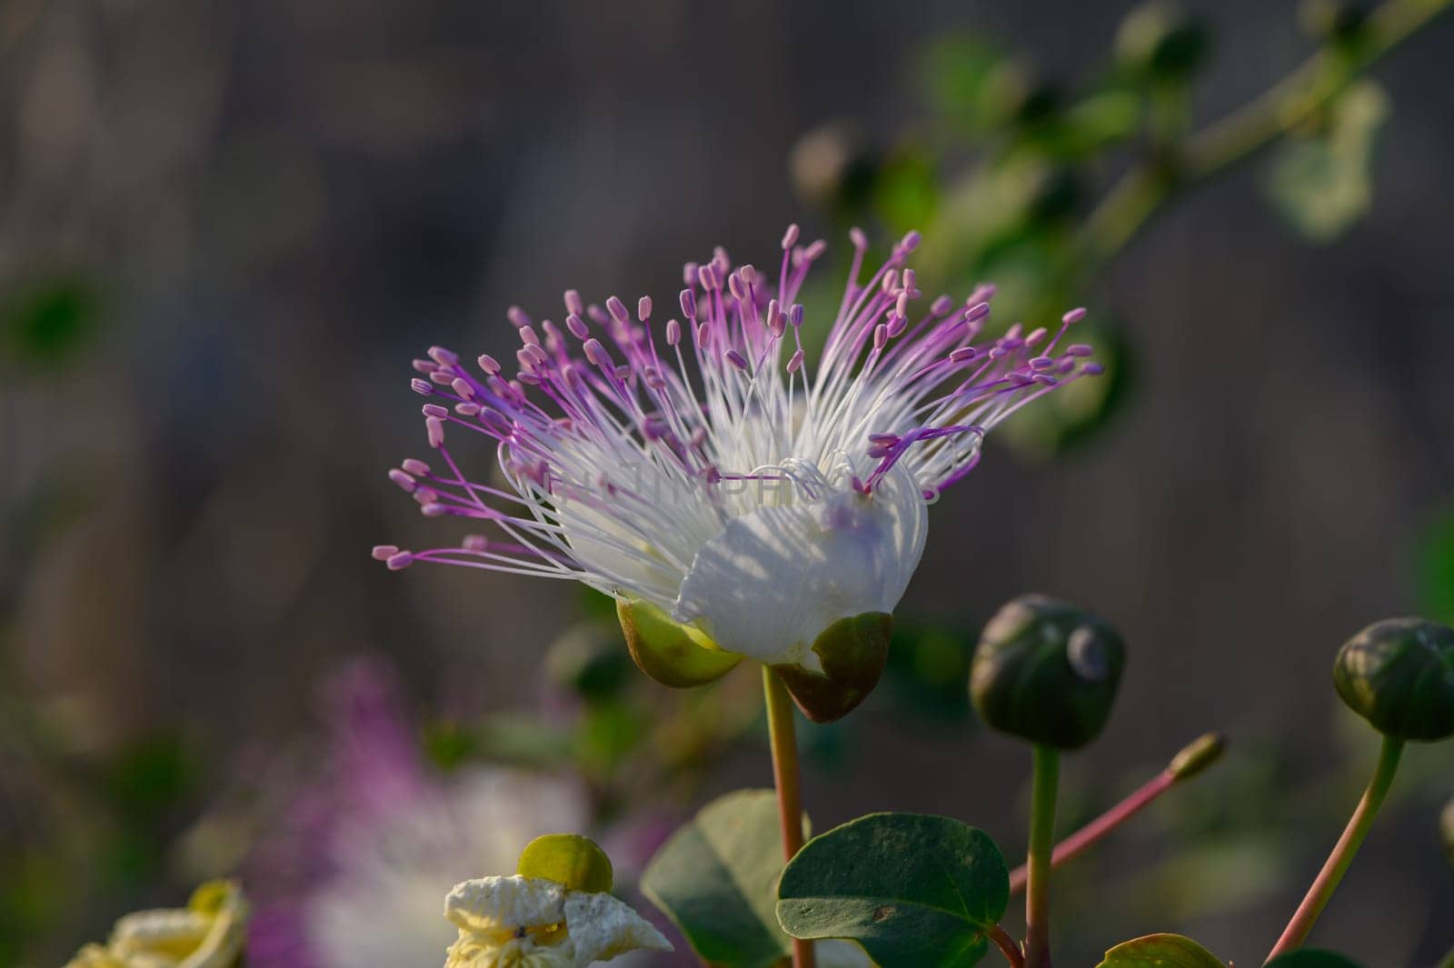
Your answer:
[[[1389,97],[1361,81],[1329,108],[1325,128],[1285,144],[1266,190],[1274,206],[1313,241],[1329,241],[1373,205],[1373,153]]]

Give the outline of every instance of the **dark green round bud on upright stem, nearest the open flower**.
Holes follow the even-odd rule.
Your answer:
[[[1111,625],[1044,594],[1002,608],[970,666],[970,699],[990,727],[1075,750],[1101,733],[1125,666]]]

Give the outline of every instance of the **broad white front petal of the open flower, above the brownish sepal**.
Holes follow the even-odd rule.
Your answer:
[[[672,618],[701,624],[727,651],[819,670],[811,645],[823,629],[899,605],[926,531],[928,506],[899,467],[867,497],[836,490],[760,507],[696,552]]]

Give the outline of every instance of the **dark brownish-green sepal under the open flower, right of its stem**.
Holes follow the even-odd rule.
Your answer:
[[[803,715],[814,722],[832,722],[848,715],[878,685],[888,663],[893,629],[894,618],[887,612],[839,619],[813,641],[813,653],[823,671],[811,671],[801,664],[772,669]]]

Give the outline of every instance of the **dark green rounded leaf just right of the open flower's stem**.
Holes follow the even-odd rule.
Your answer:
[[[1008,904],[989,834],[922,814],[869,814],[814,837],[778,887],[790,935],[856,940],[881,968],[977,964]]]

